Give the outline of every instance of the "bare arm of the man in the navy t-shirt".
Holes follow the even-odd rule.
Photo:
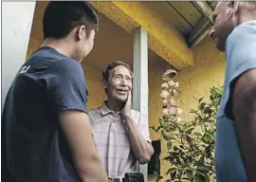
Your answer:
[[[107,182],[87,114],[74,110],[64,111],[60,114],[60,122],[82,182]]]

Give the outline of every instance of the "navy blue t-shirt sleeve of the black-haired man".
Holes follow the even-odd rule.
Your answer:
[[[57,61],[47,70],[46,82],[47,94],[58,113],[64,110],[87,113],[87,86],[80,64],[68,59]]]

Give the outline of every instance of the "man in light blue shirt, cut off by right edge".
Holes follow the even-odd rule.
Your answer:
[[[220,2],[210,37],[227,55],[217,114],[218,182],[256,181],[256,2]]]

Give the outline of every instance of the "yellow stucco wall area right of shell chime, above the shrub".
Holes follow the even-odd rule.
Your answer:
[[[193,49],[195,61],[192,68],[181,71],[178,75],[180,83],[180,106],[184,110],[183,118],[192,119],[190,109],[197,105],[197,100],[205,97],[209,100],[212,85],[223,85],[225,76],[225,54],[218,51],[215,45],[206,38]]]

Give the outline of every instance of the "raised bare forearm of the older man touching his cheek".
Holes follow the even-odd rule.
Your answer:
[[[142,137],[132,117],[126,117],[125,121],[129,131],[132,149],[137,160],[141,164],[149,162],[151,156],[154,154],[151,143],[147,142],[146,139]]]

